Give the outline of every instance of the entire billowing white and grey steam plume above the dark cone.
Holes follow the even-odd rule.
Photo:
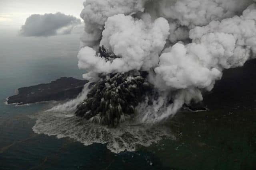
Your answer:
[[[184,103],[202,100],[201,92],[212,90],[223,69],[256,57],[254,2],[86,0],[78,66],[88,71],[85,78],[102,72],[149,71],[148,79],[163,95],[144,112],[154,120],[164,119]],[[99,57],[99,45],[120,58]],[[174,103],[168,106],[166,98]]]

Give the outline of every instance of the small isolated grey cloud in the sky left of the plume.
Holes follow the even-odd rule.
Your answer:
[[[72,29],[80,25],[80,19],[67,16],[60,12],[56,14],[33,14],[26,19],[20,29],[20,35],[27,37],[48,37],[52,35],[70,34]]]

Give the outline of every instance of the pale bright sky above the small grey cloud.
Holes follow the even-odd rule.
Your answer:
[[[85,0],[0,0],[0,29],[19,29],[32,14],[61,12],[80,18]]]

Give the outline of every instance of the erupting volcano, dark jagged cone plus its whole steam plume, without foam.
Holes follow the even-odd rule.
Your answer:
[[[256,57],[253,0],[86,0],[80,16],[93,85],[76,115],[103,125],[166,119]]]

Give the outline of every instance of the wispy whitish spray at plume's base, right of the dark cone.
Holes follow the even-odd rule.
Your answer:
[[[136,109],[136,121],[146,124],[157,124],[174,116],[184,104],[189,105],[191,101],[195,103],[203,100],[198,89],[178,90],[176,92],[158,92],[156,100],[149,104],[149,98],[140,103]]]

